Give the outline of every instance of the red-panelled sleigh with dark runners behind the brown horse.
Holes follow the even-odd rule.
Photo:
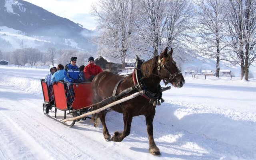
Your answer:
[[[41,79],[42,91],[44,95],[44,103],[43,103],[43,112],[46,116],[57,120],[58,122],[62,122],[67,118],[74,118],[81,114],[90,112],[90,105],[92,104],[92,90],[91,83],[80,83],[74,84],[74,101],[71,105],[68,105],[65,94],[65,83],[62,81],[58,81],[52,85],[53,98],[50,102],[49,98],[49,88],[44,81]],[[86,120],[86,118],[90,118],[89,116],[85,116],[82,120]],[[80,119],[79,119],[80,120]],[[76,121],[72,120],[67,122],[62,122],[66,126],[73,126]]]

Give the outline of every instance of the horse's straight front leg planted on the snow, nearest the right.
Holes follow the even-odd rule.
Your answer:
[[[155,110],[152,114],[145,116],[146,117],[146,125],[148,131],[148,141],[149,141],[149,149],[148,151],[153,154],[154,156],[161,156],[159,148],[156,146],[153,136],[153,119],[155,116]]]

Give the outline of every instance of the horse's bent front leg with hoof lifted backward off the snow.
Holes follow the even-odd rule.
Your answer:
[[[124,112],[123,119],[124,119],[124,131],[122,133],[118,131],[114,133],[114,135],[111,137],[111,140],[114,142],[121,142],[131,132],[132,114],[129,114],[128,112]]]

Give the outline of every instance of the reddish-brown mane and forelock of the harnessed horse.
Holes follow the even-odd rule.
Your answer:
[[[161,57],[161,55],[162,54],[160,54],[160,57]],[[142,72],[142,79],[150,77],[150,74],[153,73],[154,68],[156,68],[156,66],[158,66],[158,57],[159,56],[154,56],[153,58],[144,62],[141,65],[141,70],[148,71],[148,72]],[[166,54],[166,57],[162,58],[163,64],[165,64],[168,61],[172,61],[172,56],[170,56],[170,54]]]

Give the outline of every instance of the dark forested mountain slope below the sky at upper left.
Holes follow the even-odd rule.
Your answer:
[[[66,18],[23,0],[0,0],[0,26],[20,30],[26,36],[40,36],[56,44],[66,45],[65,39],[72,39],[85,50],[89,49],[87,44],[91,44],[88,35],[93,34]]]

